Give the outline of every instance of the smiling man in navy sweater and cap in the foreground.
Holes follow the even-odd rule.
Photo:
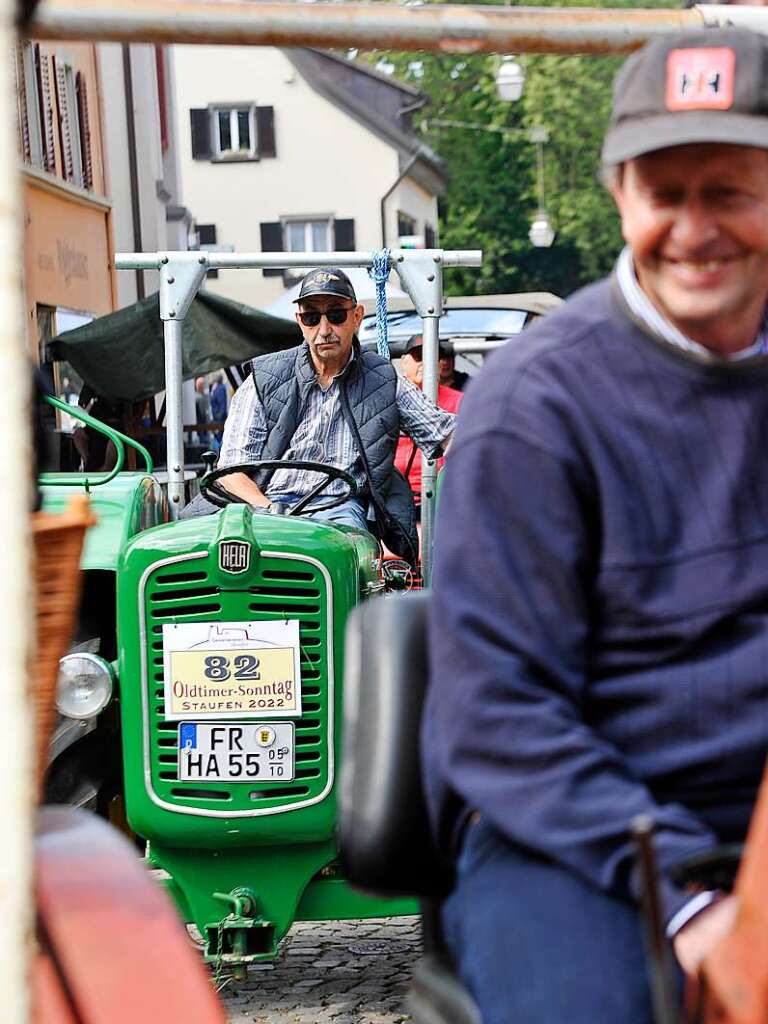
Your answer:
[[[768,749],[768,41],[669,36],[614,87],[614,274],[495,353],[438,522],[424,724],[446,937],[484,1024],[650,1024],[629,824],[694,972]]]

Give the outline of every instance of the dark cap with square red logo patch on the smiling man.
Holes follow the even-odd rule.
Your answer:
[[[691,142],[768,148],[768,38],[761,33],[663,36],[618,72],[604,165]]]

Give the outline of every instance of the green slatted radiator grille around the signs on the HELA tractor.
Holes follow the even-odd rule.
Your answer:
[[[304,803],[319,796],[328,781],[328,643],[333,642],[327,614],[327,585],[319,569],[301,560],[260,557],[248,587],[222,590],[200,563],[163,565],[151,573],[145,589],[150,708],[150,755],[153,788],[179,808],[217,812],[265,811]],[[300,718],[295,725],[296,774],[292,782],[182,782],[178,778],[178,722],[165,718],[163,626],[165,623],[299,621],[301,642]],[[232,716],[237,721],[237,716]],[[268,720],[272,723],[273,719]],[[281,720],[282,721],[282,720]]]

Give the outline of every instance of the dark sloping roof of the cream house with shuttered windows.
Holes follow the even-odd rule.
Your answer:
[[[422,105],[418,89],[326,50],[290,48],[283,52],[318,95],[397,150],[400,169],[418,152],[409,177],[431,195],[442,195],[447,183],[445,165],[411,128],[410,112]]]

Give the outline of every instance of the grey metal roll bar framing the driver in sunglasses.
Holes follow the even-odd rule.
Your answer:
[[[263,267],[371,267],[376,254],[327,253],[118,253],[118,270],[160,272],[160,317],[165,340],[166,427],[168,431],[168,499],[171,515],[178,514],[184,480],[184,434],[181,410],[181,324],[208,270]],[[437,399],[438,321],[442,314],[442,268],[479,266],[477,250],[393,249],[392,267],[422,317],[424,337],[424,393]],[[429,582],[432,567],[435,464],[422,457],[422,574]]]

